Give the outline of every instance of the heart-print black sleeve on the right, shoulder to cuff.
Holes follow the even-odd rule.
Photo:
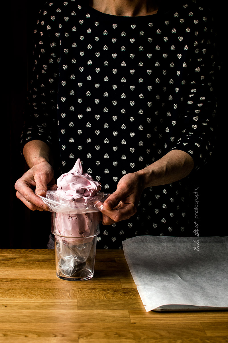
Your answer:
[[[207,161],[212,154],[216,131],[216,61],[215,32],[211,13],[202,9],[199,20],[194,20],[193,38],[185,49],[192,51],[183,68],[188,70],[182,83],[185,95],[181,99],[181,129],[177,144],[170,150],[179,149],[192,156],[195,168]],[[177,137],[177,136],[176,136]]]

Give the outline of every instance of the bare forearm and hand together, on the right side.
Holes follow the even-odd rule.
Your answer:
[[[166,185],[187,176],[193,169],[192,157],[184,151],[172,150],[148,167],[124,175],[117,190],[104,202],[103,224],[109,225],[130,218],[137,211],[146,187]]]

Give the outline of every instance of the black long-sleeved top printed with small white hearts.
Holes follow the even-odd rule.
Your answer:
[[[188,0],[181,11],[167,12],[163,22],[151,15],[128,22],[110,16],[101,22],[96,11],[77,1],[55,6],[45,5],[37,22],[36,78],[29,103],[37,134],[51,143],[49,123],[58,128],[62,171],[80,157],[102,190],[112,193],[123,175],[144,169],[172,149],[203,161],[212,145],[203,138],[212,132],[214,110],[209,106],[209,117],[202,119],[213,99],[213,86],[209,95],[203,86],[199,92],[209,54],[212,61],[209,15]],[[180,114],[182,109],[186,113]],[[55,118],[52,113],[57,113]],[[33,137],[32,129],[23,134],[28,140]],[[182,200],[185,187],[171,185],[145,189],[137,225],[133,216],[110,225],[112,234],[106,227],[98,236],[99,247],[120,242],[120,248],[122,240],[141,233],[182,232],[180,222],[188,216]]]

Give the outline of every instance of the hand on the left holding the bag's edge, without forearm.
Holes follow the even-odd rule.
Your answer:
[[[42,161],[35,164],[17,180],[15,184],[16,196],[32,211],[48,210],[48,206],[36,196],[34,191],[40,196],[45,197],[46,191],[48,190],[47,186],[54,184],[54,170],[52,166],[48,162]]]

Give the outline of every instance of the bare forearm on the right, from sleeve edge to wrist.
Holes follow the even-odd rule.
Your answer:
[[[137,171],[143,188],[166,185],[186,177],[194,167],[192,157],[182,150],[172,150],[158,161]]]

